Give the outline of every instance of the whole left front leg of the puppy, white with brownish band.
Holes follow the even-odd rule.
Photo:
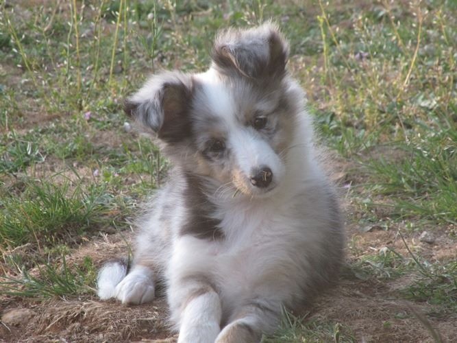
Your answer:
[[[222,306],[211,274],[212,245],[185,235],[175,241],[166,270],[171,322],[179,343],[214,343],[221,331]]]

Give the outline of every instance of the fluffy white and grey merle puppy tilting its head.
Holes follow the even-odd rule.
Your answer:
[[[174,165],[140,220],[132,268],[107,263],[101,299],[166,285],[178,342],[260,342],[343,262],[335,192],[313,147],[305,96],[273,23],[228,29],[204,73],[153,76],[125,110]]]

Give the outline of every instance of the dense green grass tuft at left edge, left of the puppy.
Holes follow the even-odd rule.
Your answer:
[[[16,187],[17,188],[17,187]],[[87,191],[70,182],[55,185],[26,180],[20,196],[4,198],[0,216],[0,246],[15,248],[33,241],[38,247],[79,239],[103,218],[109,206],[103,188]]]

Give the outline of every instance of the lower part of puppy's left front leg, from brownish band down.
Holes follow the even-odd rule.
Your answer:
[[[221,331],[221,300],[213,287],[189,278],[171,287],[169,300],[177,305],[171,311],[180,330],[178,343],[214,343]]]

